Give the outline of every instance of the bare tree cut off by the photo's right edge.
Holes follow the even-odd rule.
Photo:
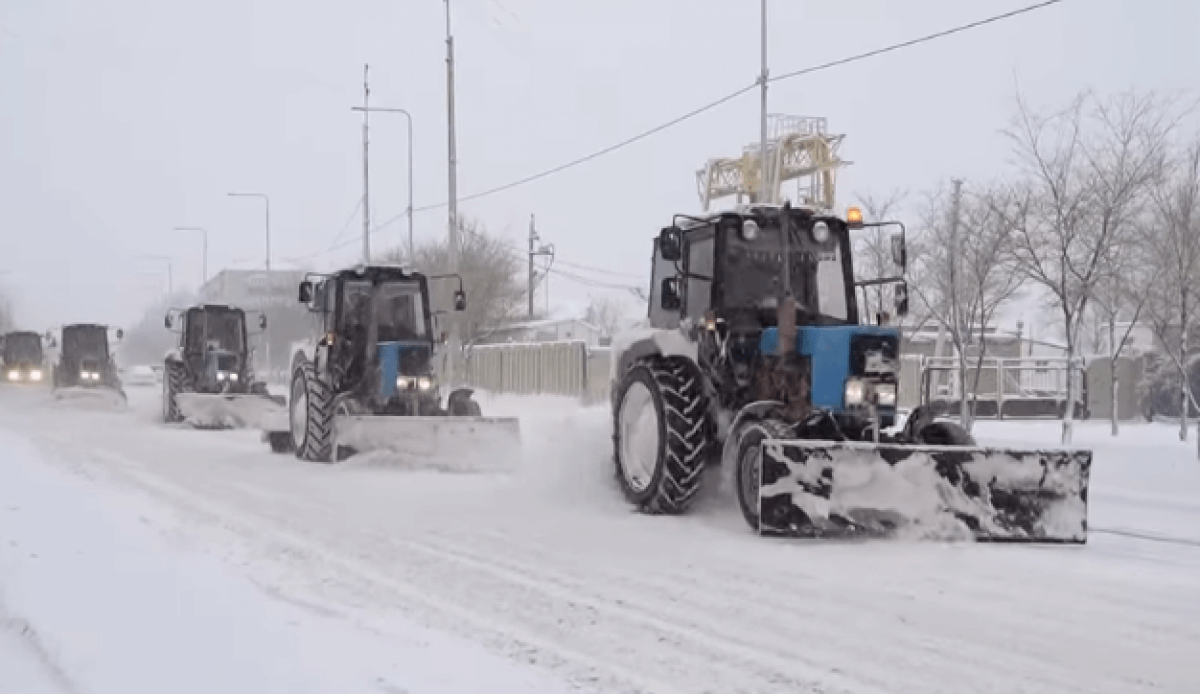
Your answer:
[[[1180,371],[1180,439],[1183,441],[1187,414],[1195,406],[1187,366],[1188,325],[1195,322],[1200,309],[1200,138],[1184,148],[1163,185],[1153,191],[1152,201],[1147,246],[1156,281],[1148,312],[1159,342]],[[1169,335],[1172,325],[1180,328],[1177,348],[1172,348]]]

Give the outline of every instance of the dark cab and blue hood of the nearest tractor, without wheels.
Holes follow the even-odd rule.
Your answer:
[[[853,208],[845,219],[791,205],[680,217],[654,243],[650,324],[694,334],[722,407],[796,402],[860,429],[878,405],[890,425],[900,334],[882,315],[880,325],[860,324],[858,291],[895,285],[895,312],[907,311],[902,226],[898,275],[856,282],[851,233],[864,225]]]

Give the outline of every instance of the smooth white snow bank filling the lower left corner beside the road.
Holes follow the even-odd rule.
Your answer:
[[[156,532],[175,525],[161,509],[4,431],[0,514],[0,690],[545,690],[446,638],[382,641],[268,599]]]

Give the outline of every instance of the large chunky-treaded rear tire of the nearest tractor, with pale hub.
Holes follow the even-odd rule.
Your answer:
[[[709,448],[707,414],[686,359],[658,358],[625,373],[613,409],[613,457],[622,491],[640,510],[688,510]]]

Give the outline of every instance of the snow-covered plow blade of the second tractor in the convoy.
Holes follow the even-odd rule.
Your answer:
[[[341,415],[338,447],[371,460],[450,472],[512,472],[521,465],[515,417]]]

